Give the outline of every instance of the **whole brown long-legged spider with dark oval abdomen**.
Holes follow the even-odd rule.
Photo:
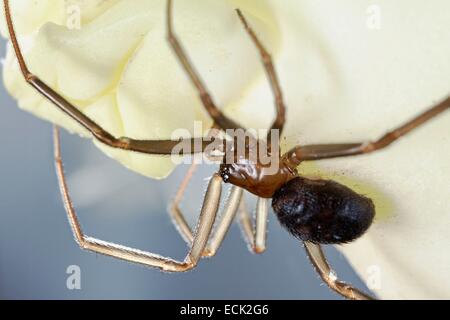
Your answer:
[[[128,137],[115,137],[108,133],[28,70],[15,34],[9,1],[4,0],[3,3],[9,35],[25,80],[57,108],[87,129],[95,139],[113,148],[153,155],[170,155],[180,142],[200,145],[200,152],[204,152],[209,147],[210,142],[203,138],[135,140]],[[239,9],[236,12],[251,41],[259,51],[275,97],[276,118],[273,121],[271,130],[282,132],[286,121],[286,108],[272,58],[248,24],[243,13]],[[166,14],[168,41],[181,66],[198,91],[204,108],[214,120],[214,127],[222,131],[230,129],[245,130],[237,122],[225,116],[216,106],[205,84],[177,39],[172,26],[171,0],[167,1]],[[322,280],[332,290],[346,298],[372,299],[368,294],[337,279],[324,255],[321,245],[351,242],[364,234],[369,229],[375,216],[373,202],[369,198],[359,195],[334,181],[313,180],[303,177],[297,171],[297,167],[304,161],[357,156],[386,148],[402,136],[448,109],[450,109],[450,97],[446,97],[439,104],[427,109],[373,142],[299,145],[282,155],[278,155],[276,153],[277,150],[268,149],[269,153],[278,155],[278,167],[275,173],[268,173],[267,167],[262,165],[258,159],[257,161],[251,161],[244,156],[234,158],[235,161],[231,163],[223,160],[220,164],[220,170],[209,181],[197,227],[192,231],[179,208],[179,204],[193,176],[196,167],[194,163],[183,179],[169,210],[177,230],[190,247],[183,261],[104,242],[88,237],[83,233],[69,195],[61,157],[59,129],[56,126],[54,127],[55,165],[69,223],[75,240],[82,249],[159,268],[167,272],[188,271],[194,268],[202,257],[215,255],[231,223],[238,216],[238,222],[244,230],[249,247],[255,253],[262,253],[266,248],[268,201],[271,198],[273,211],[277,215],[279,222],[293,236],[303,241],[308,257]],[[249,151],[249,145],[245,144],[245,146],[247,148],[246,152]],[[194,150],[192,153],[195,152]],[[225,204],[224,212],[220,219],[217,219],[223,183],[231,184],[232,188]],[[258,197],[254,226],[252,218],[244,206],[244,191]],[[215,228],[214,225],[216,225]]]

